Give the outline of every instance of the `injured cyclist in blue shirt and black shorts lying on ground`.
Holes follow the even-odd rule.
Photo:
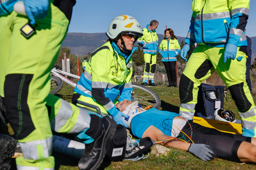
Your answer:
[[[150,137],[153,141],[163,141],[180,138],[188,143],[172,139],[161,145],[188,151],[205,161],[217,156],[234,162],[256,163],[256,138],[206,128],[173,112],[155,108],[145,111],[137,103],[127,100],[117,103],[116,108],[130,115],[125,122],[140,139]]]

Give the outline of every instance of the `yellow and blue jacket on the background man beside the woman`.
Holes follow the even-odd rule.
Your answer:
[[[147,54],[156,54],[157,46],[158,46],[158,36],[156,34],[156,30],[150,31],[148,30],[147,25],[146,28],[142,30],[143,36],[138,38],[138,44],[143,47],[143,53]]]

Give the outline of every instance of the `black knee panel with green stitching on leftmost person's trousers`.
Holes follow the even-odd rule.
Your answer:
[[[35,130],[27,104],[28,87],[33,74],[8,74],[4,82],[4,105],[16,139],[23,139]]]

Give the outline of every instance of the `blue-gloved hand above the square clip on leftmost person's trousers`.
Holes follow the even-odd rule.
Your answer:
[[[24,5],[31,24],[48,14],[49,0],[24,0]]]

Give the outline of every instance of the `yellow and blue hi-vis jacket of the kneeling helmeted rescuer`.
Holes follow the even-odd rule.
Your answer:
[[[88,65],[82,73],[74,89],[80,95],[91,97],[100,103],[106,111],[113,108],[113,101],[119,96],[119,101],[131,100],[132,64],[131,54],[138,49],[133,47],[131,54],[125,57],[114,49],[108,41],[91,54]],[[117,63],[118,59],[118,63]]]

